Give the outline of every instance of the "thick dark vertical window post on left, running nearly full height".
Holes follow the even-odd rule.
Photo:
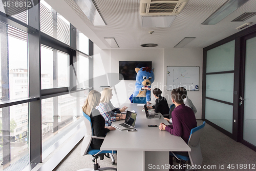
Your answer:
[[[35,2],[36,1],[36,2]],[[40,3],[28,10],[28,25],[39,29]],[[29,74],[29,97],[40,97],[40,33],[28,31],[28,74]],[[41,151],[41,100],[29,103],[29,163],[42,162]]]

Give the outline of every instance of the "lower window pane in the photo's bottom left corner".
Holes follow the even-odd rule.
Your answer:
[[[0,108],[0,170],[29,164],[28,103]]]

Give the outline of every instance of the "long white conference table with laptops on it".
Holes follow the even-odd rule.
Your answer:
[[[123,104],[121,107],[123,106],[128,107],[127,110],[136,111],[135,128],[138,131],[128,132],[118,129],[110,131],[100,148],[117,150],[117,170],[168,170],[153,168],[169,165],[169,151],[191,150],[181,137],[170,135],[169,132],[159,129],[161,122],[168,124],[163,116],[160,119],[146,119],[145,112],[142,111],[143,106],[133,103]],[[116,122],[122,123],[124,120]],[[148,127],[147,125],[150,124],[156,124],[157,127]]]

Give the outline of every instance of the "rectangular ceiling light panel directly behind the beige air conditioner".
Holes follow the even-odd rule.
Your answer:
[[[144,16],[142,27],[170,27],[176,16]]]

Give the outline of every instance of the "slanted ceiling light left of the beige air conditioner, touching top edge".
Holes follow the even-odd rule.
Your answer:
[[[89,18],[94,26],[105,26],[106,23],[100,15],[94,0],[74,0],[78,7]]]

